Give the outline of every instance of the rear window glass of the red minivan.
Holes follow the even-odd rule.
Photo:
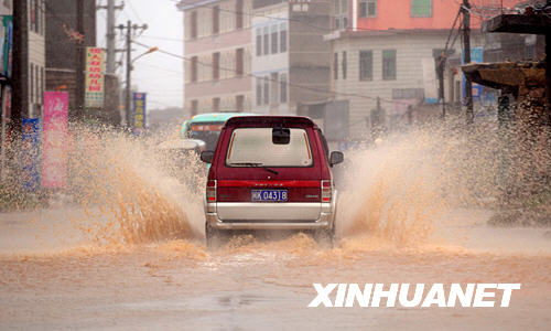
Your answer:
[[[289,143],[277,145],[272,128],[238,128],[231,134],[228,167],[311,167],[312,148],[304,129],[290,129]]]

